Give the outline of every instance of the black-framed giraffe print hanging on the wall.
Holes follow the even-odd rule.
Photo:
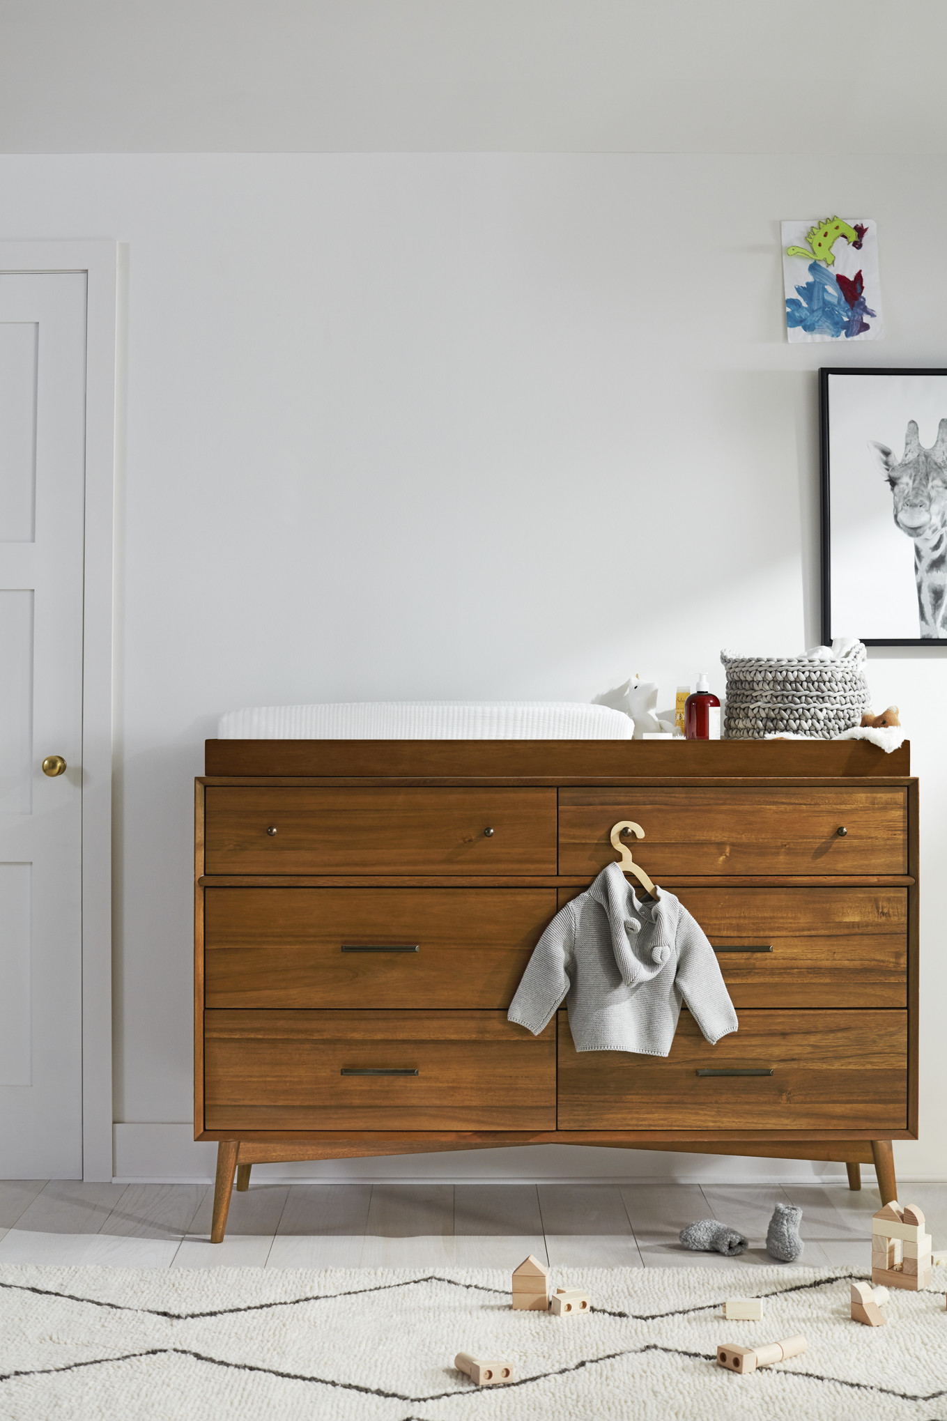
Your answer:
[[[947,369],[821,369],[822,639],[947,647]]]

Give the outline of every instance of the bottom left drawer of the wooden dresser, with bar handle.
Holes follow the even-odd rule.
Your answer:
[[[204,1128],[554,1130],[555,1022],[535,1037],[503,1012],[206,1012]]]

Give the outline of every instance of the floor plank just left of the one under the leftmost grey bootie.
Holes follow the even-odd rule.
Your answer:
[[[541,1184],[538,1192],[551,1268],[642,1266],[618,1185]]]

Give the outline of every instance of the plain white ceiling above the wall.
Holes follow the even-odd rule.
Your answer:
[[[944,153],[943,0],[0,0],[4,152]]]

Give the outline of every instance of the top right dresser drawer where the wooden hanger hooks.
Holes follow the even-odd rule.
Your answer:
[[[559,872],[615,863],[622,818],[645,830],[632,853],[652,878],[907,872],[907,791],[885,786],[562,789]]]

